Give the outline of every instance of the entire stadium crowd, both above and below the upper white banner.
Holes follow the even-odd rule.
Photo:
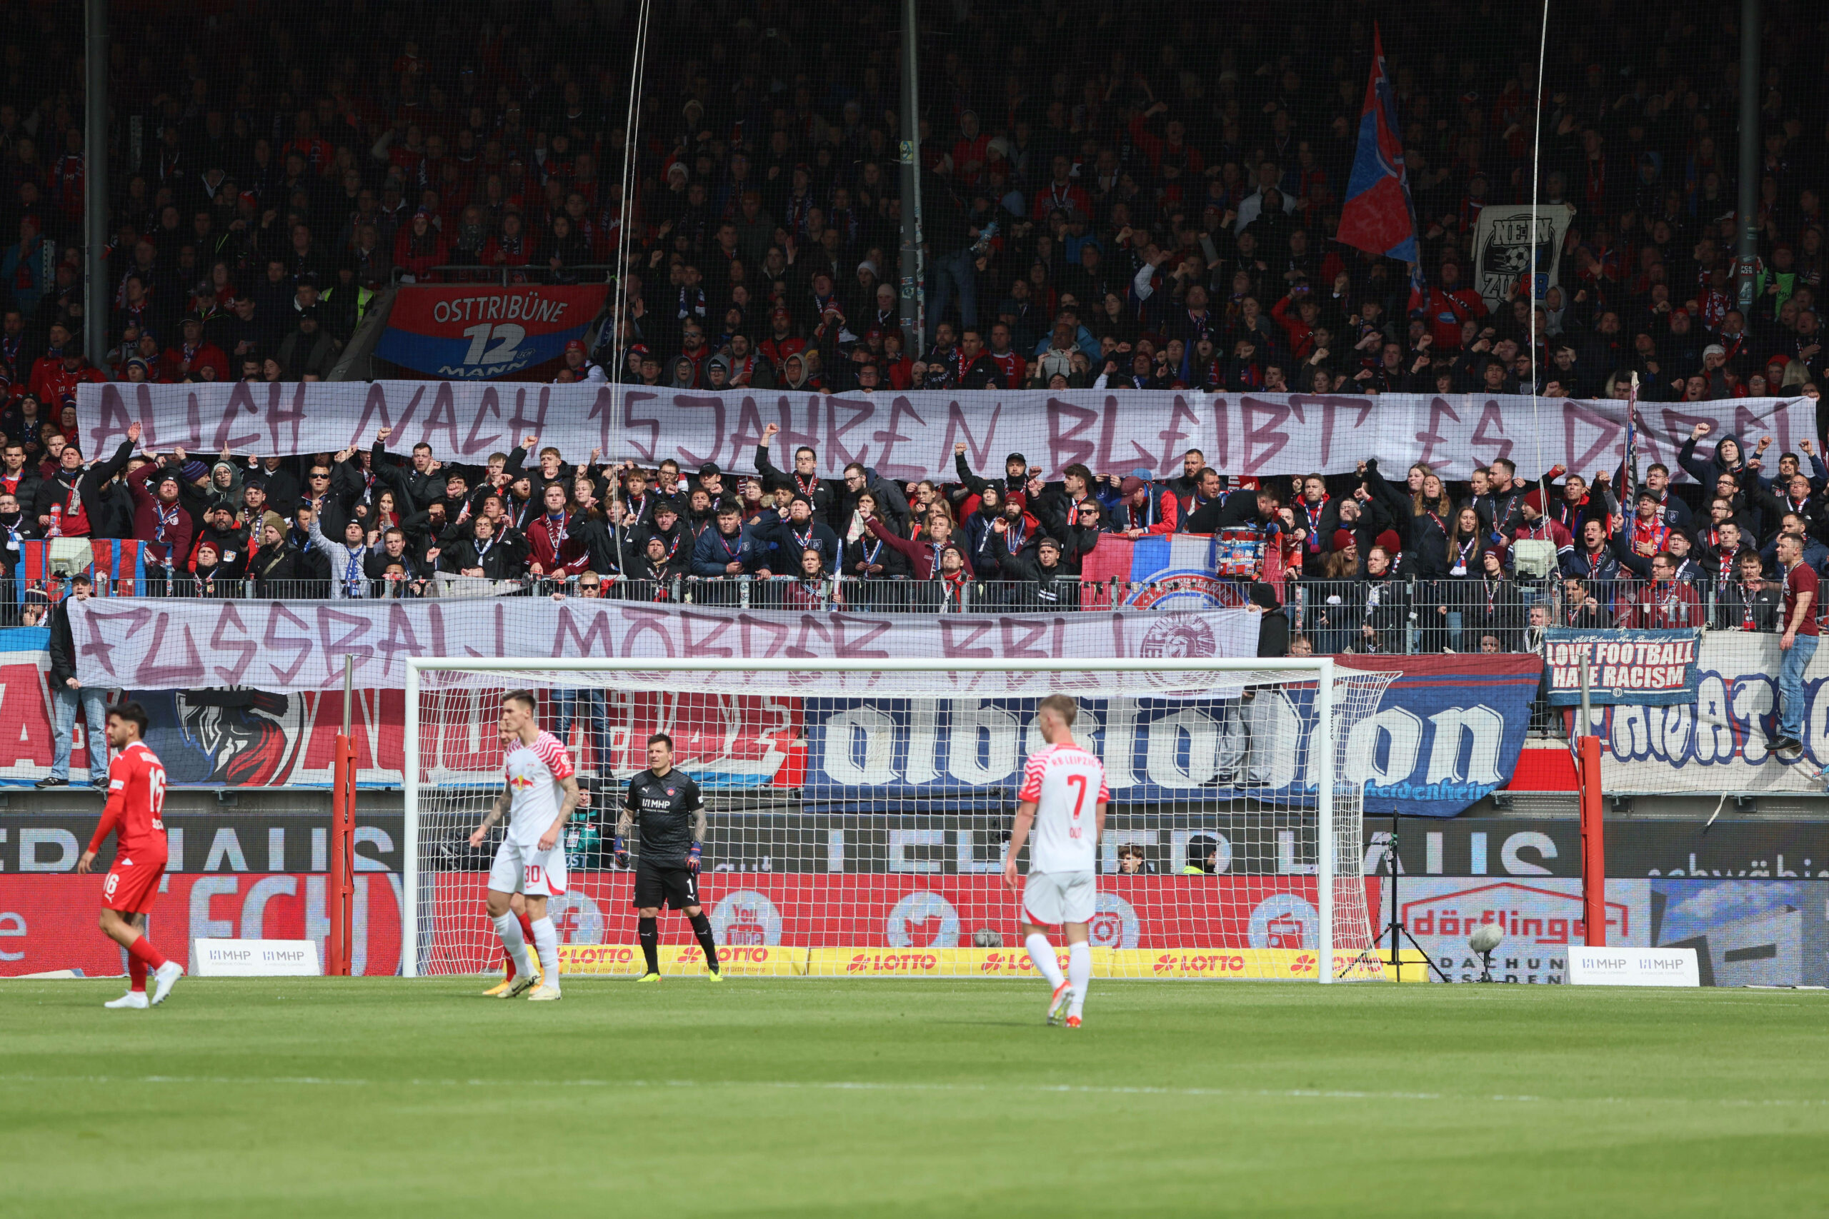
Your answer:
[[[1174,479],[1068,468],[1057,482],[1011,455],[1002,472],[960,461],[957,482],[896,486],[869,470],[810,479],[768,444],[757,477],[532,442],[441,466],[390,453],[388,437],[258,461],[80,451],[80,382],[320,378],[395,281],[616,270],[626,303],[562,380],[1600,397],[1637,373],[1646,398],[1674,400],[1816,397],[1822,380],[1829,108],[1798,84],[1822,40],[1798,5],[1774,5],[1765,31],[1750,311],[1730,283],[1734,38],[1701,5],[1635,16],[1624,38],[1599,13],[1558,16],[1540,133],[1527,38],[1450,42],[1441,29],[1465,15],[1445,2],[1385,24],[1421,287],[1332,239],[1364,16],[1295,5],[1271,38],[1236,11],[929,15],[947,24],[922,48],[924,334],[904,329],[894,291],[891,11],[657,15],[629,197],[629,68],[596,51],[629,29],[607,13],[508,22],[457,4],[421,22],[384,5],[366,37],[340,27],[342,4],[115,13],[104,302],[82,298],[79,13],[40,13],[35,29],[13,15],[7,570],[22,539],[93,535],[146,543],[163,590],[412,596],[441,576],[589,590],[620,576],[651,581],[644,596],[719,599],[766,574],[770,596],[902,605],[883,588],[920,585],[905,603],[936,609],[969,590],[1057,603],[1052,585],[1114,532],[1242,530],[1260,546],[1253,576],[1326,581],[1289,599],[1300,645],[1410,651],[1522,647],[1533,616],[1763,627],[1774,537],[1798,532],[1814,567],[1829,561],[1814,446],[1769,468],[1767,444],[1738,437],[1685,451],[1701,499],[1652,468],[1626,503],[1622,472],[1538,486],[1503,461],[1456,486],[1370,461],[1260,486],[1198,453]],[[1513,16],[1535,29],[1535,11]],[[1538,135],[1542,201],[1575,208],[1562,285],[1491,307],[1469,287],[1478,216],[1529,199]],[[108,311],[106,351],[82,349],[90,307]],[[1547,596],[1556,576],[1584,583]]]

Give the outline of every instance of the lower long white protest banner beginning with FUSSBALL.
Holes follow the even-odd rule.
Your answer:
[[[651,601],[490,598],[461,601],[71,601],[77,676],[104,689],[249,685],[293,693],[342,689],[344,656],[358,689],[399,689],[408,656],[552,660],[565,680],[576,658],[805,656],[841,660],[1072,660],[1257,656],[1258,616],[1249,610],[1055,614],[849,614],[737,610]],[[578,678],[578,674],[569,674]],[[812,674],[807,674],[812,676]],[[615,680],[615,678],[607,678]],[[796,687],[794,674],[693,673],[697,691],[768,693]],[[426,685],[466,685],[463,673],[430,673]],[[885,685],[887,682],[887,685]],[[1145,687],[1172,685],[1152,673]],[[858,673],[823,693],[1035,694],[1094,689],[1057,673],[913,674]]]

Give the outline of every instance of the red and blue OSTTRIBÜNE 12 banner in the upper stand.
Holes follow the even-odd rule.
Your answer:
[[[604,283],[406,285],[375,358],[406,378],[552,380],[565,344],[583,340],[607,292]]]

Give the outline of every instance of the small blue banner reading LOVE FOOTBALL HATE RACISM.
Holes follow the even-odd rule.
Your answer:
[[[1670,707],[1695,702],[1695,662],[1701,627],[1677,631],[1571,631],[1544,632],[1544,671],[1549,704],[1577,707],[1582,702],[1582,658],[1588,658],[1589,700],[1595,705],[1637,704]]]

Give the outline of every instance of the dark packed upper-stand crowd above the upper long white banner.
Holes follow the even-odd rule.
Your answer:
[[[1767,5],[1750,311],[1730,283],[1732,16],[1558,13],[1536,132],[1536,9],[1500,7],[1518,38],[1450,40],[1445,0],[1385,15],[1421,287],[1332,241],[1366,15],[925,11],[924,334],[894,291],[893,5],[657,13],[629,199],[631,66],[600,53],[631,46],[629,5],[121,7],[90,353],[80,5],[18,11],[0,375],[46,417],[91,376],[316,378],[397,280],[604,281],[626,250],[627,303],[562,380],[1606,397],[1639,373],[1648,398],[1814,393],[1829,110],[1800,84],[1822,57],[1809,5]],[[1538,144],[1540,201],[1575,207],[1562,287],[1491,309],[1478,216],[1529,201]]]

